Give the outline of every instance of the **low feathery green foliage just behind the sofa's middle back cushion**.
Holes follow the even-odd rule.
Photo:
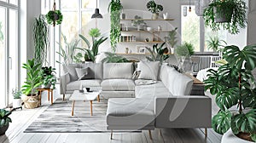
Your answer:
[[[125,57],[117,55],[117,54],[113,54],[110,52],[106,52],[105,54],[107,54],[107,57],[105,57],[102,62],[106,62],[106,63],[123,63],[123,62],[130,62],[129,60],[127,60]]]

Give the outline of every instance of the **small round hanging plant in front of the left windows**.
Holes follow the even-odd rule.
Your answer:
[[[60,10],[55,9],[55,3],[53,6],[53,10],[49,10],[49,12],[45,15],[47,23],[49,25],[61,25],[61,22],[63,20],[63,15],[61,14]]]

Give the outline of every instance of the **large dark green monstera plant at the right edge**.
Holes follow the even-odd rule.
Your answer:
[[[218,71],[209,70],[204,81],[206,89],[216,95],[220,108],[212,117],[212,128],[218,134],[231,128],[237,136],[243,138],[241,134],[249,134],[249,138],[243,139],[256,141],[256,84],[252,75],[256,66],[256,44],[241,50],[227,46],[224,60],[227,64],[219,66]]]

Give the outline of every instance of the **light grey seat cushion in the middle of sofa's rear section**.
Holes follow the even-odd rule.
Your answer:
[[[101,86],[106,91],[134,91],[135,83],[131,79],[105,79]]]

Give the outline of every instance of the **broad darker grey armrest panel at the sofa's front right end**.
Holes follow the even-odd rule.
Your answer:
[[[212,100],[207,96],[156,97],[156,128],[210,128]]]

